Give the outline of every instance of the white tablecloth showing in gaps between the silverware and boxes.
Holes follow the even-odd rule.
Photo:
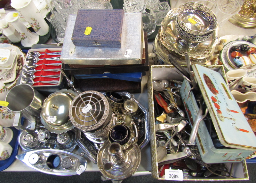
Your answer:
[[[255,29],[244,29],[244,28],[240,28],[237,27],[235,25],[233,25],[232,23],[230,23],[229,21],[220,28],[219,30],[219,34],[218,36],[224,36],[224,35],[250,35],[253,36],[254,34],[256,34],[256,28]],[[50,42],[49,42],[50,43]],[[152,42],[148,43],[148,53],[152,53]],[[150,61],[150,64],[153,64],[152,60]],[[136,93],[133,94],[134,97],[146,108],[148,108],[148,95],[147,95],[147,83],[148,80],[148,72],[147,75],[144,76],[142,78],[142,92],[141,93]],[[78,147],[76,147],[76,149],[78,149]],[[77,150],[79,152],[80,148]],[[81,150],[80,150],[81,151]],[[23,153],[23,151],[20,149],[18,154]],[[136,175],[145,175],[145,174],[150,174],[150,170],[151,170],[151,156],[150,156],[150,144],[148,143],[148,145],[146,147],[144,147],[141,151],[141,164],[140,167],[138,169],[138,171],[134,174]],[[96,164],[93,164],[92,161],[85,155],[84,156],[87,160],[87,169],[86,171],[99,171],[99,168]],[[36,171],[30,167],[28,167],[27,165],[25,165],[24,163],[22,163],[20,160],[15,160],[12,165],[5,169],[4,171]]]

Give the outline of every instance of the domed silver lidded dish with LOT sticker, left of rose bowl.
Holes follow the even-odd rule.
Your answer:
[[[74,128],[68,113],[72,100],[75,97],[76,94],[73,91],[64,89],[52,93],[45,99],[40,114],[41,122],[45,125],[45,128],[57,134]]]

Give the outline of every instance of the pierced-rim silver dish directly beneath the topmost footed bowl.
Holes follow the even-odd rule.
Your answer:
[[[170,10],[164,18],[161,24],[161,31],[159,33],[161,43],[170,51],[174,51],[182,56],[184,56],[185,53],[188,53],[189,56],[200,59],[211,56],[216,44],[218,43],[218,28],[216,28],[209,39],[199,43],[196,48],[189,49],[180,47],[176,40],[178,33],[175,29],[177,11],[177,8]]]

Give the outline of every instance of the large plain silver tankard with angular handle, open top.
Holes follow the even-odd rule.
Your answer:
[[[13,126],[20,131],[34,133],[36,123],[40,120],[40,112],[45,97],[28,84],[14,86],[6,95],[5,101],[9,102],[8,109],[16,112]],[[21,125],[21,117],[31,122],[30,129]]]

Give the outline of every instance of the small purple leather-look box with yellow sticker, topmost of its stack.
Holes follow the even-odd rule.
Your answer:
[[[71,39],[76,46],[121,47],[123,21],[124,10],[78,10]]]

